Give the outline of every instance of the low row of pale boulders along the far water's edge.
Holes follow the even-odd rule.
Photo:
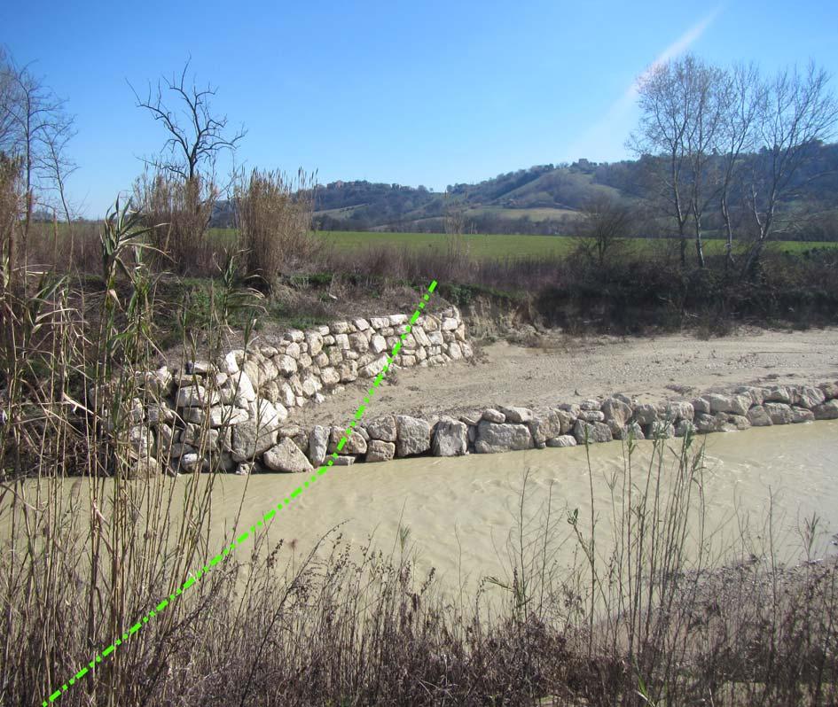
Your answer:
[[[694,400],[638,403],[623,395],[580,404],[532,410],[497,406],[459,416],[384,416],[356,426],[335,460],[337,464],[386,462],[394,458],[433,455],[494,454],[544,447],[575,447],[612,439],[682,437],[687,431],[708,433],[745,430],[773,424],[838,419],[838,382],[818,386],[740,387]],[[280,438],[283,431],[279,432]],[[333,454],[342,427],[294,430],[283,442],[295,447],[300,464],[281,456],[265,459],[264,469],[305,471]],[[304,463],[303,460],[305,461]],[[257,467],[258,468],[258,467]]]

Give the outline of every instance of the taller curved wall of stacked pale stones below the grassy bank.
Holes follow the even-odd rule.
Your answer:
[[[309,436],[287,424],[294,408],[325,400],[357,379],[391,368],[439,366],[471,358],[457,307],[422,315],[411,326],[403,314],[332,322],[266,337],[220,361],[192,361],[183,371],[164,367],[137,374],[125,443],[137,475],[206,470],[245,472],[255,464],[302,470]],[[286,441],[294,440],[296,446]]]

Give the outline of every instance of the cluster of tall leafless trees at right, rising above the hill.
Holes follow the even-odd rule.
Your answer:
[[[682,265],[691,239],[705,267],[705,218],[714,207],[728,260],[737,230],[748,237],[746,271],[795,218],[781,207],[817,178],[806,167],[838,122],[828,83],[812,63],[764,76],[752,64],[722,68],[693,55],[640,77],[630,145],[646,162],[646,199],[677,231]]]

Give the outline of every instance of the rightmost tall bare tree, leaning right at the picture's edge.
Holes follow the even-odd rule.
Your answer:
[[[748,208],[756,237],[743,274],[754,267],[777,226],[779,202],[792,196],[795,176],[811,148],[831,136],[838,103],[828,88],[829,75],[810,63],[806,71],[781,71],[761,92],[756,110],[756,146],[748,186]]]

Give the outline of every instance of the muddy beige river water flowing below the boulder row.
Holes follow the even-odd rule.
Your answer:
[[[717,549],[729,555],[725,560],[747,556],[735,543],[743,524],[757,542],[767,538],[764,521],[769,511],[778,548],[788,552],[799,548],[798,528],[804,518],[817,514],[821,552],[835,550],[831,540],[838,530],[838,421],[718,433],[699,437],[696,443],[705,445],[706,527],[717,532]],[[667,444],[677,450],[681,440],[671,439]],[[651,442],[642,442],[634,453],[636,483],[651,449]],[[675,459],[674,452],[667,453],[663,486],[675,476],[671,470]],[[569,540],[567,513],[578,509],[587,532],[592,482],[600,537],[607,536],[607,524],[615,517],[607,482],[615,474],[619,478],[623,460],[622,443],[611,442],[591,446],[590,474],[583,447],[334,467],[278,513],[268,530],[270,543],[284,539],[284,551],[288,551],[289,541],[295,540],[294,552],[305,553],[340,524],[345,540],[363,544],[373,533],[374,544],[390,551],[402,526],[410,529],[419,567],[435,567],[443,585],[453,588],[485,575],[501,576],[509,564],[507,540],[517,527],[521,487],[529,471],[525,522],[531,524],[539,517],[552,489],[556,534],[559,539],[568,537],[559,558],[569,563],[575,543]],[[240,532],[305,478],[284,474],[216,477],[213,540],[218,548],[225,535],[232,537],[231,522],[239,507]],[[188,480],[161,478],[153,483],[185,489]],[[76,491],[86,486],[78,480],[67,481],[68,493],[71,485]],[[607,538],[598,541],[600,551],[605,551]]]

